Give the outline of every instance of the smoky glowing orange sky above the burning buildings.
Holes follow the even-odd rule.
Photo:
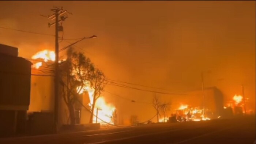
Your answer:
[[[183,93],[200,89],[201,71],[210,70],[206,87],[217,86],[227,101],[244,84],[255,109],[255,1],[1,1],[0,26],[54,35],[51,21],[40,16],[52,14],[53,6],[73,14],[62,23],[64,39],[98,36],[75,49],[109,79]],[[18,47],[20,57],[54,50],[54,42],[52,36],[0,29],[0,43]],[[67,45],[60,42],[60,48]],[[106,90],[148,103],[154,95],[110,85]],[[151,105],[103,95],[124,115],[143,121],[155,114]],[[178,96],[157,95],[172,103]]]

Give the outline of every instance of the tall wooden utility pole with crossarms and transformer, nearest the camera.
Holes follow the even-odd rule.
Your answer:
[[[59,22],[64,21],[67,16],[64,15],[67,11],[64,11],[63,8],[54,7],[51,9],[54,12],[52,15],[45,16],[48,19],[54,20],[54,23],[48,23],[48,26],[55,24],[55,76],[54,76],[54,128],[58,132],[58,117],[59,117],[59,32],[63,32],[63,27]],[[63,16],[61,16],[63,15]],[[60,20],[59,20],[59,16]]]

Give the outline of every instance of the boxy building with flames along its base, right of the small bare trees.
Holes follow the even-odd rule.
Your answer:
[[[176,107],[173,113],[176,113],[177,117],[180,116],[178,119],[187,117],[193,121],[210,120],[223,114],[223,95],[217,87],[205,88],[204,98],[203,91],[196,90],[187,92],[173,101],[173,107]]]

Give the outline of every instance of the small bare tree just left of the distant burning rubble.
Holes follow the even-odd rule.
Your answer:
[[[161,113],[166,114],[167,110],[169,110],[169,103],[162,103],[159,98],[155,95],[153,97],[153,107],[157,111],[157,122],[159,122],[159,117],[161,118]]]

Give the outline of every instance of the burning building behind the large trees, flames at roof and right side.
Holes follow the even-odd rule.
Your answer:
[[[42,50],[32,56],[34,61],[32,68],[33,73],[43,75],[54,75],[55,53],[50,50]],[[60,62],[60,61],[59,61]],[[94,89],[88,85],[80,91],[82,95],[81,102],[84,106],[91,108],[93,103]],[[54,110],[54,77],[32,77],[31,79],[31,104],[30,112],[50,111]],[[65,105],[62,96],[59,96],[59,120],[62,124],[69,123],[68,108]],[[97,110],[98,109],[98,110]],[[94,115],[98,115],[98,119],[94,116],[93,123],[113,124],[113,114],[115,107],[108,105],[103,96],[97,99],[95,103]],[[84,107],[75,110],[77,123],[89,123],[90,112]],[[97,120],[96,120],[97,119]],[[103,121],[102,121],[103,120]]]

